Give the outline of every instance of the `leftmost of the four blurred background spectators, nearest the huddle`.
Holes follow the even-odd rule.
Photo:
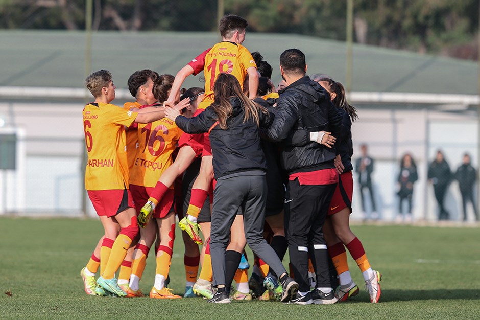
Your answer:
[[[372,172],[373,172],[373,159],[367,154],[367,145],[360,146],[362,157],[356,159],[355,171],[358,174],[358,185],[360,186],[360,195],[362,199],[362,211],[364,218],[367,217],[365,210],[365,195],[364,189],[367,188],[370,194],[370,200],[372,201],[372,219],[378,219],[378,214],[375,205],[375,196],[373,195],[372,188]]]

